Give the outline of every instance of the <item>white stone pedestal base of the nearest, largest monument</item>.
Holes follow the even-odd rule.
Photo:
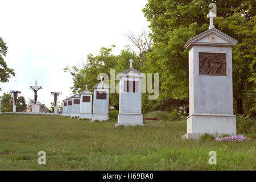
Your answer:
[[[199,139],[205,133],[220,137],[236,135],[236,115],[192,114],[187,118],[187,134],[183,139]]]

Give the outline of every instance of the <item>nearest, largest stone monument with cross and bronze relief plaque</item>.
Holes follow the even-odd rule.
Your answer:
[[[233,114],[232,47],[237,40],[214,28],[212,12],[209,30],[185,44],[189,57],[189,116],[183,139],[199,139],[204,133],[236,134]]]

